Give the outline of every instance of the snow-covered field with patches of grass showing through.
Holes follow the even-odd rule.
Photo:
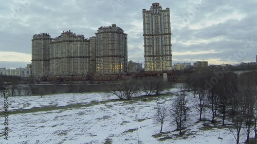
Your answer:
[[[178,89],[161,97],[115,100],[106,93],[71,93],[9,97],[8,140],[0,143],[235,143],[228,128],[204,127],[191,105],[190,121],[183,136],[170,118],[160,124],[152,116],[158,104],[170,106]],[[188,93],[193,101],[193,94]],[[4,118],[1,117],[1,129]],[[1,132],[3,133],[3,132]],[[218,139],[221,137],[223,139]],[[242,139],[245,140],[245,139]]]

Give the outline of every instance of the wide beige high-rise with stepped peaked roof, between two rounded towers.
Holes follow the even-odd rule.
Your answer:
[[[86,75],[90,73],[89,39],[70,31],[50,42],[51,75]]]

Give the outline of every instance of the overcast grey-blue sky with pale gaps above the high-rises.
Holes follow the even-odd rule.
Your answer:
[[[0,67],[31,63],[34,34],[70,30],[89,38],[113,23],[128,34],[128,60],[144,64],[142,9],[155,2],[170,8],[173,64],[255,62],[257,0],[12,0],[0,5]]]

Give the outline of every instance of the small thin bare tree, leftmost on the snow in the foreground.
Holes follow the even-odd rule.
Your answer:
[[[156,107],[157,111],[154,114],[153,120],[155,123],[161,123],[161,130],[162,131],[162,125],[166,118],[168,117],[168,109],[165,105],[157,105]]]

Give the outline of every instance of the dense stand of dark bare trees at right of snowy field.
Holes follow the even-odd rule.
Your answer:
[[[246,142],[256,143],[257,139],[257,73],[245,73],[237,76],[229,69],[213,69],[202,67],[199,69],[187,69],[181,78],[186,82],[186,87],[180,90],[179,97],[172,102],[171,114],[173,122],[177,124],[177,130],[185,127],[188,100],[185,91],[192,91],[194,95],[194,107],[199,112],[199,121],[205,121],[203,116],[208,110],[211,113],[211,123],[222,118],[222,125],[225,121],[232,122],[229,126],[236,143],[240,142],[241,134],[245,132]],[[157,111],[157,119],[162,119],[161,112],[165,112],[162,106]],[[158,114],[159,113],[159,114]],[[158,116],[159,115],[159,116]],[[251,133],[254,137],[251,140]]]

